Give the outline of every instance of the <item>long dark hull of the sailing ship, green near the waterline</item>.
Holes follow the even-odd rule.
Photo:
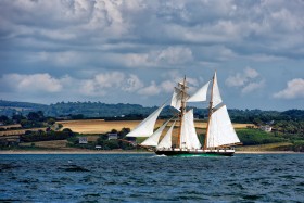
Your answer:
[[[166,156],[233,156],[235,152],[198,152],[198,151],[155,151],[157,155],[166,155]]]

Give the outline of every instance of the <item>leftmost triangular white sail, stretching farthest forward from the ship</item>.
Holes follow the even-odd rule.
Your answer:
[[[164,109],[165,104],[160,106],[154,111],[150,116],[143,119],[134,130],[127,134],[126,137],[149,137],[153,134],[153,129],[156,123],[156,119]]]

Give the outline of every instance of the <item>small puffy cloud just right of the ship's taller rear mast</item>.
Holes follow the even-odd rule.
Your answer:
[[[229,76],[225,84],[228,87],[241,88],[242,93],[249,93],[264,87],[265,80],[261,80],[258,76],[255,69],[246,67],[243,72]]]

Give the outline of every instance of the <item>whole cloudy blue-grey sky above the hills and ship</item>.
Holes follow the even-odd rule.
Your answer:
[[[183,76],[191,93],[216,71],[228,109],[303,110],[303,0],[1,0],[0,99],[154,106]]]

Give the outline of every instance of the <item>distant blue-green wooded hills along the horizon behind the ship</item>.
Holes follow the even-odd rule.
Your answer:
[[[106,104],[102,102],[58,102],[54,104],[37,104],[29,102],[16,102],[0,100],[0,115],[12,116],[14,114],[27,115],[29,112],[42,111],[45,116],[78,115],[76,118],[104,118],[141,119],[154,111],[156,106],[147,107],[139,104]],[[194,107],[195,117],[207,116],[206,109]],[[166,106],[161,116],[170,116],[173,109]],[[262,110],[229,110],[233,123],[267,124],[277,120],[304,122],[303,110],[262,111]]]

